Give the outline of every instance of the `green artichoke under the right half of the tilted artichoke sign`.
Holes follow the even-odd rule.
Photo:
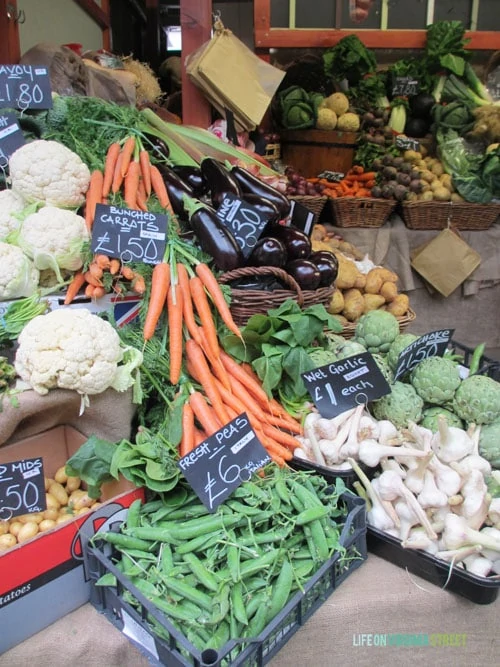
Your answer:
[[[412,370],[410,382],[426,403],[444,405],[453,399],[462,380],[451,359],[427,357]]]

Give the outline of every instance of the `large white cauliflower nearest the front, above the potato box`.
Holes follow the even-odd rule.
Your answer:
[[[125,391],[142,363],[121,345],[113,326],[85,308],[60,308],[33,318],[21,331],[14,361],[19,377],[39,394],[59,387],[82,396],[109,387]],[[133,351],[133,355],[130,355]],[[129,361],[119,366],[125,357]]]

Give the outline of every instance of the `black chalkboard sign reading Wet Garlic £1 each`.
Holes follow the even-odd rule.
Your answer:
[[[369,352],[302,373],[302,379],[319,413],[326,419],[391,391]]]

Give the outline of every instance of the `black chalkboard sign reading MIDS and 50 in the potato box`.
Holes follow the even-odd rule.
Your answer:
[[[46,509],[42,458],[0,463],[0,520]]]

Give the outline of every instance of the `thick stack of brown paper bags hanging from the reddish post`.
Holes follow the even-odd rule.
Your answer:
[[[212,39],[188,56],[186,72],[223,117],[226,109],[233,112],[238,130],[255,129],[285,76],[220,22]]]

